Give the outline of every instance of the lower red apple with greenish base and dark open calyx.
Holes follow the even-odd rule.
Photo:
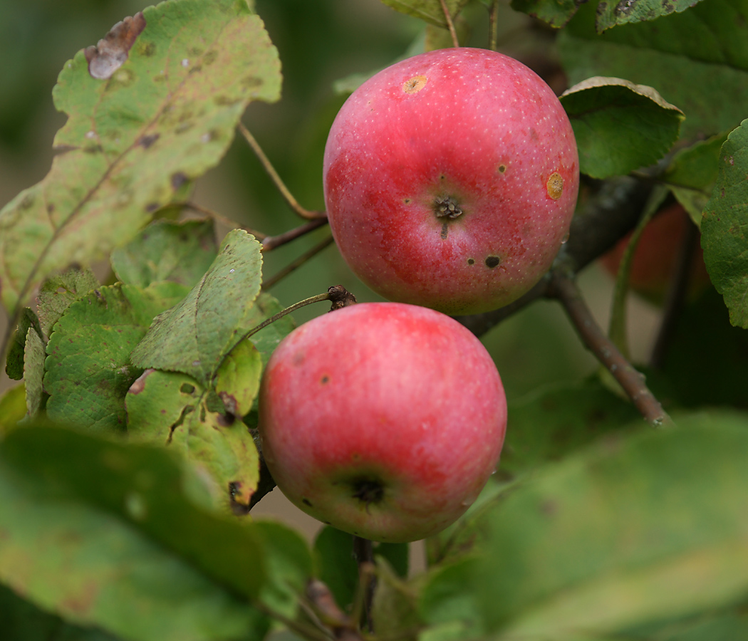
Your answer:
[[[416,541],[459,518],[496,469],[506,397],[491,356],[454,319],[360,303],[275,349],[259,430],[299,509],[365,539]]]

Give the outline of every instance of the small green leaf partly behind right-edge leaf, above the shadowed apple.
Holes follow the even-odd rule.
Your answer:
[[[699,226],[717,181],[720,149],[726,140],[726,133],[718,134],[678,151],[663,177],[672,194]]]

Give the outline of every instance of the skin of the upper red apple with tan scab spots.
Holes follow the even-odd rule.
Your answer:
[[[375,292],[449,314],[503,307],[556,257],[577,202],[574,132],[513,58],[440,49],[393,64],[328,135],[325,207],[340,254]],[[453,206],[455,218],[440,217]]]

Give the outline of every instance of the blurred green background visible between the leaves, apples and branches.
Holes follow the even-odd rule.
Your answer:
[[[49,169],[52,138],[64,123],[64,115],[52,105],[51,91],[64,62],[95,44],[114,22],[144,6],[138,0],[0,2],[0,204],[36,183]],[[371,73],[402,57],[423,37],[423,22],[378,0],[257,0],[256,7],[281,55],[283,98],[274,105],[251,105],[244,122],[297,199],[308,209],[322,209],[322,153],[345,98],[334,92],[334,81]],[[485,46],[485,6],[475,0],[465,16],[471,28],[467,44]],[[562,91],[550,31],[503,7],[499,34],[504,52],[545,71],[553,77],[554,89]],[[301,223],[239,138],[224,162],[197,182],[194,200],[264,233],[280,233]],[[278,272],[328,233],[322,228],[266,254],[266,275]],[[593,267],[581,282],[593,311],[607,322],[610,279]],[[287,305],[337,283],[361,301],[377,300],[349,272],[334,245],[286,277],[272,293]],[[295,318],[304,322],[325,309],[307,307]],[[634,355],[645,358],[656,313],[634,301],[631,316],[636,321]],[[510,399],[539,384],[574,380],[595,369],[555,303],[533,305],[483,340]]]

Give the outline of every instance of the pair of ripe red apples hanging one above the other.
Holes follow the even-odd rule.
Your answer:
[[[445,314],[502,307],[548,271],[578,166],[554,93],[496,52],[417,55],[352,93],[325,148],[325,206],[353,272],[395,302],[320,316],[269,361],[263,454],[299,508],[405,542],[470,506],[497,466],[506,398]]]

